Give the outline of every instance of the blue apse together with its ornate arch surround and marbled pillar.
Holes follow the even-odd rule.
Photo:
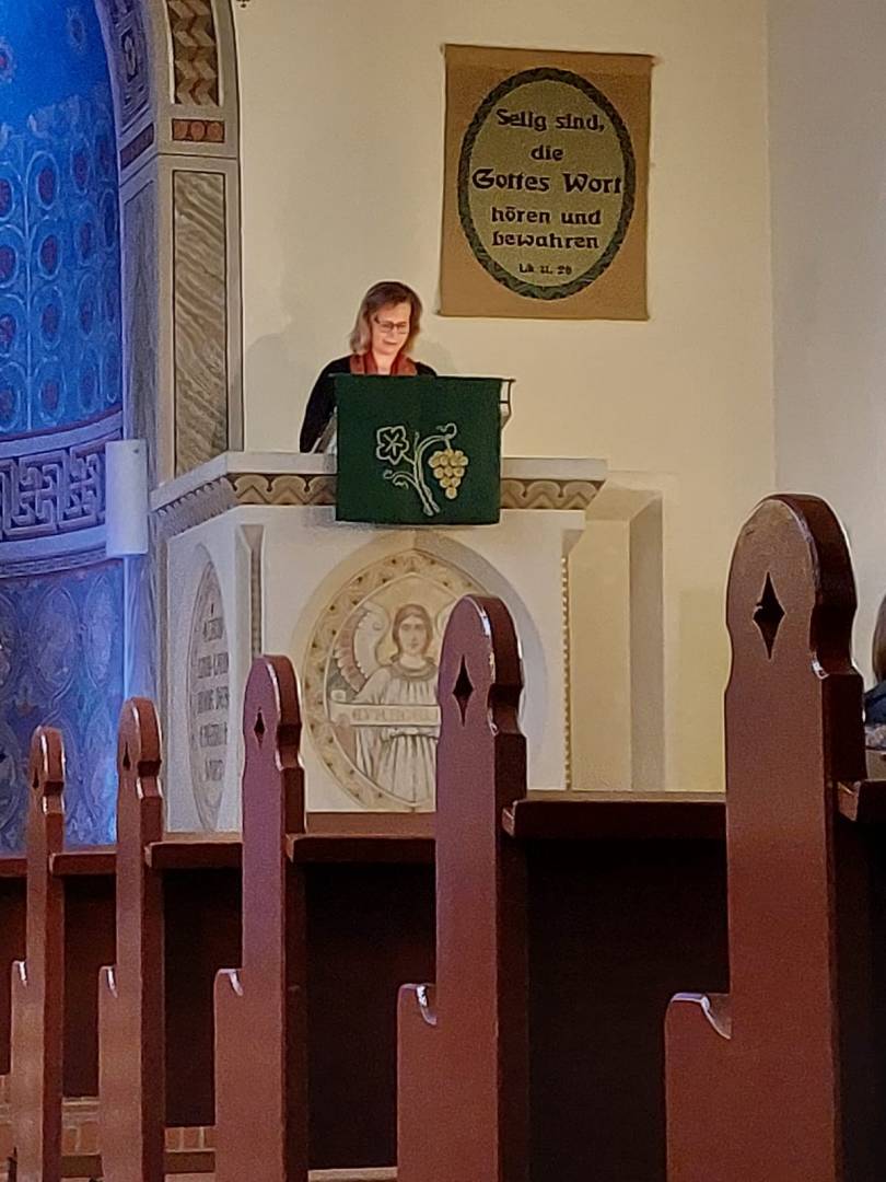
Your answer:
[[[239,160],[233,0],[0,0],[0,851],[37,723],[104,843],[124,690],[162,709],[165,551],[105,558],[104,449],[170,479],[220,447],[206,407],[242,443]]]

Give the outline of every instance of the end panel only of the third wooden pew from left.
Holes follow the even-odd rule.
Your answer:
[[[215,982],[217,1182],[307,1178],[305,900],[286,855],[304,832],[300,733],[292,664],[260,657],[243,706],[242,967]]]

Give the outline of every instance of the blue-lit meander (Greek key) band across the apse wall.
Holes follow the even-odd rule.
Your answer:
[[[47,538],[102,525],[105,443],[117,434],[0,457],[0,541]]]

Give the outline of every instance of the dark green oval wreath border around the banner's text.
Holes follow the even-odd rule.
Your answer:
[[[575,90],[580,90],[587,98],[595,103],[612,121],[612,126],[615,130],[619,148],[621,149],[621,155],[625,162],[625,199],[621,204],[621,214],[619,216],[618,225],[615,226],[612,238],[610,239],[608,246],[592,267],[588,267],[587,271],[582,271],[580,275],[576,275],[575,279],[571,279],[568,284],[551,285],[546,287],[527,282],[525,279],[519,279],[510,271],[497,262],[486,246],[483,246],[480,234],[474,225],[468,186],[470,157],[474,151],[474,144],[480,135],[481,128],[487,121],[489,112],[496,103],[504,98],[506,95],[509,95],[520,86],[526,86],[533,82],[563,83],[567,86],[573,86]],[[461,221],[462,229],[468,239],[471,251],[474,252],[474,258],[486,271],[489,272],[493,279],[497,280],[509,291],[515,292],[515,294],[525,296],[527,299],[566,299],[568,296],[575,296],[578,292],[584,291],[585,287],[588,287],[595,279],[599,279],[621,249],[621,245],[631,225],[631,219],[633,217],[634,200],[637,194],[637,161],[633,152],[633,143],[631,142],[631,132],[625,126],[625,122],[615,110],[614,105],[602,93],[602,91],[598,90],[593,83],[587,80],[587,78],[582,78],[581,74],[576,74],[571,70],[558,70],[555,66],[536,66],[532,70],[521,70],[520,73],[504,78],[503,82],[500,82],[499,85],[491,90],[480,104],[474,118],[470,121],[468,130],[464,132],[464,138],[462,139],[462,151],[458,157],[457,183],[458,219]]]

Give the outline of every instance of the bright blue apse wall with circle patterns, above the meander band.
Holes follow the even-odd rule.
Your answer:
[[[92,0],[0,0],[0,437],[122,398],[113,108]]]

